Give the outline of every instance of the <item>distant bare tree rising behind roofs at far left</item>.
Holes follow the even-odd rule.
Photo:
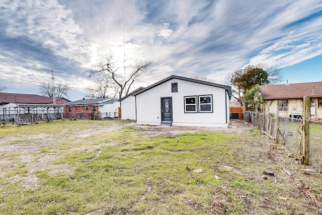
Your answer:
[[[50,98],[67,96],[69,88],[66,84],[58,83],[55,86],[49,83],[42,83],[40,85],[40,94]]]

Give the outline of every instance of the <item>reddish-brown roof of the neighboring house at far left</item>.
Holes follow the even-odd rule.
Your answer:
[[[55,100],[64,99],[70,101],[64,97],[56,98]],[[49,104],[53,102],[53,98],[46,96],[39,96],[34,94],[19,94],[19,93],[0,93],[0,105],[9,103],[15,104]]]

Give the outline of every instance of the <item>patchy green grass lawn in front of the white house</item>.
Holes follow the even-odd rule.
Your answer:
[[[0,127],[0,154],[4,154],[0,214],[311,214],[319,210],[309,197],[297,199],[298,186],[286,179],[285,167],[266,160],[267,140],[254,131],[156,134],[150,128],[154,126],[120,120]],[[91,133],[91,129],[102,130]],[[30,153],[21,153],[17,146]],[[196,172],[199,169],[202,172]],[[282,177],[264,180],[264,170]],[[26,187],[30,178],[34,182]],[[317,181],[310,181],[310,193],[321,200],[322,179],[313,178]],[[309,180],[313,179],[303,183]],[[289,193],[294,190],[295,194]],[[281,195],[288,200],[281,200]]]

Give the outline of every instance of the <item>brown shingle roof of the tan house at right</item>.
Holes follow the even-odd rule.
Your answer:
[[[314,89],[313,89],[313,86]],[[264,99],[295,99],[322,97],[322,82],[260,86]]]

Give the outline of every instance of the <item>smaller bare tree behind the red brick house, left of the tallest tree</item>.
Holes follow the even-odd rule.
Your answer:
[[[118,85],[116,85],[109,74],[100,73],[91,77],[94,81],[94,85],[86,88],[86,97],[88,98],[106,98],[109,96],[108,92],[114,90],[114,96],[117,94]],[[116,91],[116,92],[115,92]]]

